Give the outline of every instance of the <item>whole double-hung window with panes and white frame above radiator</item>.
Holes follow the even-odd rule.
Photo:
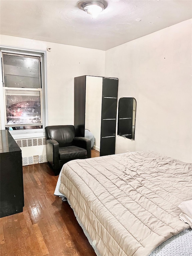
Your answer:
[[[13,133],[26,129],[43,131],[46,126],[44,55],[1,49],[1,62],[4,128]]]

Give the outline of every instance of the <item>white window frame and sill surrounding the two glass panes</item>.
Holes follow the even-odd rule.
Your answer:
[[[3,46],[0,45],[0,57],[1,57],[1,85],[0,85],[0,120],[1,120],[1,125],[0,128],[1,130],[5,129],[5,119],[6,119],[6,102],[5,102],[5,90],[6,89],[12,89],[12,90],[17,90],[19,88],[12,88],[12,87],[5,87],[4,86],[4,73],[3,73],[3,63],[2,63],[2,54],[3,53],[8,53],[11,55],[19,55],[23,57],[39,57],[40,58],[40,74],[41,74],[41,79],[40,79],[40,88],[41,89],[40,95],[41,95],[41,115],[42,115],[42,125],[43,128],[40,129],[27,129],[27,130],[13,130],[9,131],[11,135],[13,136],[14,139],[25,139],[25,138],[35,138],[35,137],[44,137],[45,133],[45,127],[48,125],[48,108],[47,108],[47,52],[46,50],[32,50],[32,49],[26,49],[26,48],[19,48],[19,47],[8,47],[8,46]],[[24,89],[24,88],[20,88]],[[29,90],[35,90],[35,88],[25,88]],[[37,88],[36,88],[37,89]],[[23,125],[20,125],[23,126]]]

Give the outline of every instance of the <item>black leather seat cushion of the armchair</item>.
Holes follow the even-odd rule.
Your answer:
[[[82,158],[87,156],[87,150],[76,146],[68,146],[59,148],[59,159],[65,160],[69,158]]]

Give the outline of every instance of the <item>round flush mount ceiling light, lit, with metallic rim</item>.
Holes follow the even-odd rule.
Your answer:
[[[80,2],[78,7],[86,13],[91,14],[92,18],[96,18],[107,7],[107,3],[105,1],[86,1]]]

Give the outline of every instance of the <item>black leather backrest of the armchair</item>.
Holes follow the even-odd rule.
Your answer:
[[[75,127],[73,125],[52,125],[45,127],[46,140],[56,140],[59,147],[67,147],[73,145],[75,137]]]

